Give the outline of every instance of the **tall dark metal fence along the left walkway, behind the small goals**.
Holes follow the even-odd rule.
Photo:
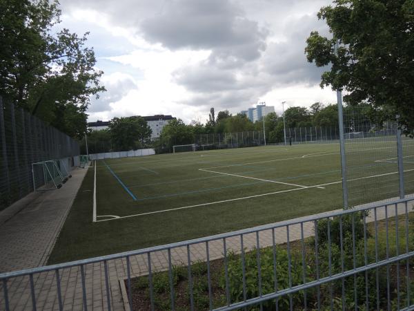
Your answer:
[[[78,155],[75,140],[0,97],[0,210],[33,191],[32,163]]]

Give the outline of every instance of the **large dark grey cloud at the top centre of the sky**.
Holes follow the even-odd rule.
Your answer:
[[[228,0],[175,0],[164,12],[141,23],[144,37],[172,50],[178,48],[217,49],[217,55],[234,55],[246,61],[264,50],[268,30],[247,19]]]

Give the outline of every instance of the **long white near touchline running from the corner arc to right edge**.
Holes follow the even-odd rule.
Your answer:
[[[407,172],[407,171],[414,171],[414,169],[407,169],[404,172]],[[351,180],[348,180],[348,181],[362,180],[362,179],[367,179],[367,178],[375,178],[375,177],[380,177],[380,176],[392,175],[392,174],[396,174],[396,173],[398,173],[398,172],[395,171],[395,172],[392,172],[392,173],[384,173],[384,174],[379,174],[379,175],[374,175],[374,176],[366,176],[366,177],[351,179]],[[147,213],[133,214],[133,215],[128,215],[128,216],[113,216],[113,217],[117,217],[117,218],[102,219],[102,220],[97,220],[97,222],[99,223],[100,221],[109,221],[109,220],[117,220],[117,219],[123,219],[123,218],[132,218],[132,217],[138,217],[138,216],[146,216],[146,215],[152,215],[152,214],[166,213],[167,211],[178,211],[180,209],[190,209],[190,208],[193,208],[193,207],[202,207],[202,206],[215,205],[215,204],[226,203],[226,202],[234,202],[234,201],[246,200],[246,199],[250,199],[250,198],[258,198],[258,197],[261,197],[261,196],[271,196],[273,194],[283,194],[283,193],[286,193],[286,192],[298,191],[298,190],[303,190],[303,189],[311,189],[311,188],[317,188],[317,187],[324,187],[324,186],[328,186],[328,185],[335,185],[335,184],[339,184],[341,182],[342,182],[342,180],[339,180],[339,181],[336,181],[336,182],[327,182],[325,184],[306,186],[306,187],[303,187],[303,188],[295,188],[295,189],[288,189],[288,190],[282,190],[282,191],[275,191],[275,192],[269,192],[267,194],[256,194],[254,196],[243,196],[241,198],[233,198],[233,199],[221,200],[221,201],[216,201],[216,202],[201,203],[201,204],[197,204],[197,205],[190,205],[190,206],[185,206],[185,207],[176,207],[176,208],[172,208],[172,209],[163,209],[161,211],[148,211]]]

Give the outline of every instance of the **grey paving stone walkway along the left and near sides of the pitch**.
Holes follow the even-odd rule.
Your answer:
[[[86,170],[77,169],[68,181],[67,191],[52,191],[45,196],[37,196],[32,204],[21,209],[3,225],[0,225],[0,270],[11,271],[29,267],[37,267],[46,263],[48,254],[57,238],[59,229],[70,209],[73,199],[80,187]],[[409,203],[408,210],[412,211],[413,203]],[[43,211],[39,213],[38,211]],[[37,212],[36,212],[37,211]],[[378,209],[377,219],[384,219],[384,208]],[[405,212],[405,205],[398,205],[397,213]],[[326,213],[324,213],[326,214]],[[323,216],[324,214],[319,214]],[[388,207],[388,217],[395,215],[395,208]],[[373,221],[373,213],[367,220]],[[313,236],[313,222],[306,222],[309,217],[297,218],[304,221],[304,238]],[[277,225],[277,224],[275,224]],[[295,241],[302,236],[302,227],[289,225],[289,239]],[[286,243],[286,227],[264,230],[259,233],[259,246],[266,247],[275,243]],[[257,234],[244,234],[245,249],[257,247]],[[226,249],[241,252],[240,236],[226,238]],[[191,261],[206,260],[206,243],[190,245]],[[222,258],[224,243],[222,239],[208,243],[210,260]],[[171,249],[172,265],[186,264],[188,262],[187,247]],[[141,276],[148,274],[147,254],[130,256],[130,275]],[[124,310],[127,305],[125,295],[121,292],[120,284],[127,277],[127,259],[115,259],[106,262],[83,265],[84,278],[81,267],[67,267],[59,270],[61,288],[61,306],[63,310]],[[168,269],[168,251],[151,253],[151,270],[162,271]],[[108,278],[106,278],[106,272]],[[85,292],[83,292],[83,282]],[[108,282],[108,287],[106,283]],[[31,295],[31,282],[29,276],[21,276],[8,280],[7,291],[10,301],[10,310],[59,310],[59,294],[57,291],[57,272],[55,270],[33,274],[32,286],[34,298]],[[0,284],[0,310],[5,308],[4,286]],[[124,293],[125,294],[125,293]],[[86,299],[83,299],[85,297]],[[109,299],[108,299],[109,297]],[[108,303],[109,302],[109,303]]]

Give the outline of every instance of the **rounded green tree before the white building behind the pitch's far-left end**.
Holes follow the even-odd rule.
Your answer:
[[[114,117],[109,124],[112,146],[117,151],[139,149],[151,137],[151,129],[143,117]]]

